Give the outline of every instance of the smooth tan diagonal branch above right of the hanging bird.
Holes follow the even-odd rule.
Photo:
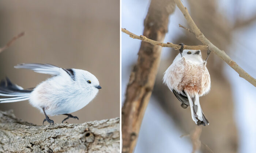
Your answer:
[[[244,78],[246,81],[250,82],[253,86],[256,87],[256,79],[249,75],[245,70],[243,70],[236,62],[234,62],[223,50],[220,50],[218,47],[214,46],[199,30],[196,26],[195,22],[193,21],[192,17],[188,13],[188,9],[183,6],[180,0],[174,0],[177,4],[177,7],[183,13],[185,19],[188,22],[189,27],[191,28],[192,32],[196,35],[196,38],[200,40],[204,45],[209,47],[209,50],[214,52],[218,55],[222,60],[224,60],[230,67],[232,67],[240,77]]]

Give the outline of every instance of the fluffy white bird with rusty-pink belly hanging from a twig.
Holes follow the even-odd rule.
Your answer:
[[[199,103],[199,97],[210,91],[210,74],[206,68],[206,60],[210,55],[207,51],[206,60],[202,60],[200,50],[183,50],[167,68],[163,76],[163,83],[174,93],[181,102],[182,108],[190,106],[193,121],[197,125],[208,125]]]

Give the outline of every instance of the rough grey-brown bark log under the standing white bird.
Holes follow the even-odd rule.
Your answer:
[[[120,119],[37,126],[0,111],[0,152],[119,153]]]

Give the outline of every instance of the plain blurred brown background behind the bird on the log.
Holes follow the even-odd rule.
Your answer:
[[[22,38],[0,54],[0,78],[8,76],[23,88],[49,78],[31,70],[15,69],[19,63],[50,63],[94,74],[102,86],[97,97],[72,113],[79,121],[118,117],[120,112],[120,1],[119,0],[1,0],[0,46],[25,31]],[[42,125],[44,114],[28,101],[3,103],[16,117]],[[66,116],[50,117],[60,123]]]

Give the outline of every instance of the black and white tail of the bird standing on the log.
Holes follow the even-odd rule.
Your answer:
[[[0,98],[0,103],[26,101],[29,99],[32,91],[33,90],[24,90],[22,87],[15,85],[10,79],[6,78],[6,81],[1,80],[0,82],[0,96],[8,98]]]

